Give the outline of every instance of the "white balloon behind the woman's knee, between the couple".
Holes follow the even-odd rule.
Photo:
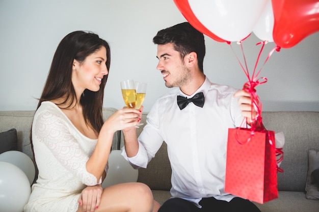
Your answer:
[[[112,150],[109,157],[109,170],[102,188],[121,183],[136,182],[139,171],[134,169],[121,155],[121,150]]]

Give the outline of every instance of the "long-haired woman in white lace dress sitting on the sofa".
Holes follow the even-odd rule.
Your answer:
[[[109,44],[96,34],[76,31],[60,42],[33,120],[39,174],[25,212],[152,211],[144,184],[101,188],[114,133],[141,120],[141,111],[125,108],[103,122],[110,61]]]

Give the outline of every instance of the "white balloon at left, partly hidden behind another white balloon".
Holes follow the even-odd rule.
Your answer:
[[[0,154],[0,161],[8,162],[19,167],[28,177],[30,185],[32,185],[36,169],[29,156],[22,152],[12,150]]]

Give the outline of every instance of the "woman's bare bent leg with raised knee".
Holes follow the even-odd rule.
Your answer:
[[[153,204],[153,195],[148,186],[125,183],[104,188],[100,204],[94,212],[151,212]],[[82,206],[77,212],[83,212]]]

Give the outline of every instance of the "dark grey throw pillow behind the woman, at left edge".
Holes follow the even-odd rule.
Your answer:
[[[0,154],[9,150],[17,150],[17,130],[11,129],[0,133]]]

